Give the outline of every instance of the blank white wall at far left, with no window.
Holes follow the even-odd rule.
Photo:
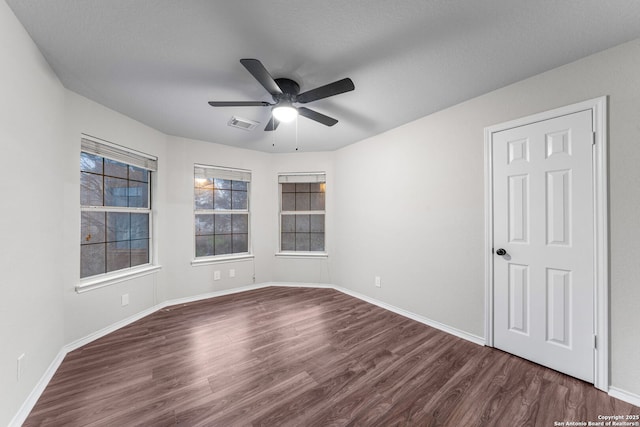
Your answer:
[[[0,62],[0,425],[7,425],[64,343],[65,91],[4,1]]]

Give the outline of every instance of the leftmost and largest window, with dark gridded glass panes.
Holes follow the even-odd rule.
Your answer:
[[[151,172],[156,158],[82,138],[80,277],[151,263]]]

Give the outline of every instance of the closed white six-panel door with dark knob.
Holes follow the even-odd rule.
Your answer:
[[[591,383],[592,129],[587,110],[492,140],[494,346]]]

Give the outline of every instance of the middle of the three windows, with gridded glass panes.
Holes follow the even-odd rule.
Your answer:
[[[196,165],[193,175],[196,259],[249,254],[251,172]]]

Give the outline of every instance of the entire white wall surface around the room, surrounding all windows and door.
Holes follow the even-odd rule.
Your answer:
[[[483,129],[601,95],[610,95],[612,381],[640,394],[640,40],[336,152],[284,155],[166,136],[66,91],[5,2],[0,46],[0,425],[64,344],[158,302],[254,282],[334,283],[483,336]],[[80,133],[158,156],[162,265],[84,294],[74,290]],[[253,260],[191,265],[194,163],[252,171]],[[307,171],[327,172],[329,257],[276,258],[277,173]]]

